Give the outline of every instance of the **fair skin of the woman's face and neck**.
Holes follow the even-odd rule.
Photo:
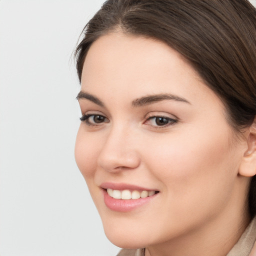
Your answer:
[[[142,36],[99,37],[86,55],[81,91],[87,119],[75,158],[108,239],[145,247],[146,256],[226,255],[249,222],[249,128],[238,138],[194,69]],[[116,210],[104,202],[104,182],[156,193],[139,207]]]

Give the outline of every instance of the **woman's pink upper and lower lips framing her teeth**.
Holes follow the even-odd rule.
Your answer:
[[[158,194],[156,193],[154,195],[147,196],[145,198],[138,198],[138,199],[128,199],[128,200],[115,199],[107,194],[106,188],[117,189],[117,190],[129,189],[129,190],[141,190],[141,191],[142,190],[156,191],[156,190],[144,188],[141,186],[131,185],[131,184],[111,183],[111,182],[104,182],[100,185],[100,187],[103,188],[102,191],[103,191],[105,205],[111,210],[120,211],[120,212],[131,211],[142,205],[145,205],[147,202],[153,200],[153,198],[155,198],[155,196],[157,196]]]

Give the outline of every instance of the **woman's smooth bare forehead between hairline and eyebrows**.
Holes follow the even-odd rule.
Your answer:
[[[172,93],[197,100],[217,96],[197,72],[164,42],[121,32],[99,37],[86,55],[81,89],[106,100]],[[106,92],[112,92],[111,95]]]

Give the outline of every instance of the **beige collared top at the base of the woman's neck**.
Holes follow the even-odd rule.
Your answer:
[[[254,217],[238,242],[227,253],[226,256],[256,256],[250,254],[253,244],[256,241],[256,217]],[[144,256],[145,249],[122,249],[116,256]]]

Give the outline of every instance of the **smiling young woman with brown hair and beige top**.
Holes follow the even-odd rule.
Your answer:
[[[75,157],[119,255],[249,255],[256,10],[108,0],[77,46]]]

